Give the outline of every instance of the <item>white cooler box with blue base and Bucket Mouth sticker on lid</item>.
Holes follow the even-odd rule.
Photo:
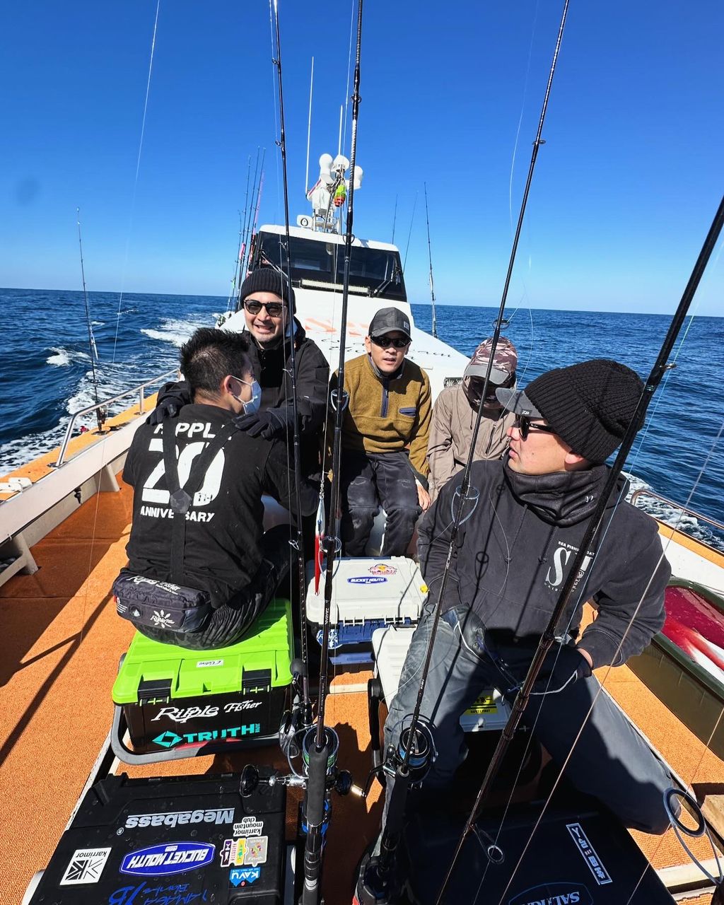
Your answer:
[[[372,633],[385,625],[414,625],[427,597],[420,567],[407,557],[339,557],[335,560],[330,650],[347,648],[335,663],[369,662]],[[314,590],[314,564],[307,572],[307,618],[324,622],[324,581]],[[321,638],[321,629],[318,639]]]

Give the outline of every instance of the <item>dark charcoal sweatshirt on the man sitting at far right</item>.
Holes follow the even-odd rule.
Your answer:
[[[607,466],[598,465],[586,472],[529,476],[512,472],[507,462],[474,462],[472,486],[480,497],[456,538],[443,612],[472,607],[491,632],[537,640],[603,491],[606,472]],[[449,548],[453,494],[461,482],[462,473],[445,484],[419,532],[420,564],[433,596]],[[622,479],[619,491],[623,488]],[[470,504],[465,514],[469,511]],[[569,626],[575,634],[583,605],[593,598],[598,614],[578,643],[595,666],[618,665],[641,653],[661,630],[671,568],[662,557],[653,519],[624,502],[620,492],[609,500],[594,543],[597,549],[586,551],[558,631]]]

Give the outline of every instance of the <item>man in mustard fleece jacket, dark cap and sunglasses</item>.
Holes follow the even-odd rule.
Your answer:
[[[369,325],[367,354],[345,366],[341,534],[349,557],[365,555],[380,504],[387,515],[382,552],[405,556],[415,522],[430,505],[430,380],[405,358],[410,341],[405,312],[383,308]],[[332,389],[337,379],[332,376]]]

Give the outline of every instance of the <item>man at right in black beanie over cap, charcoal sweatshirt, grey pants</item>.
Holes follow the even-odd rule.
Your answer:
[[[494,687],[514,699],[604,490],[605,460],[642,392],[630,368],[606,359],[548,371],[525,391],[497,391],[516,424],[506,460],[472,464],[477,492],[455,543],[424,689],[422,716],[437,752],[426,788],[452,781],[466,753],[460,716],[481,691]],[[419,530],[430,595],[390,705],[386,746],[396,747],[414,710],[461,482],[458,474],[444,485]],[[672,777],[599,693],[592,673],[643,651],[664,622],[671,568],[656,523],[624,501],[626,483],[608,500],[586,550],[523,722],[580,791],[605,802],[623,824],[662,833],[669,825],[662,792]],[[580,633],[588,600],[597,613]]]

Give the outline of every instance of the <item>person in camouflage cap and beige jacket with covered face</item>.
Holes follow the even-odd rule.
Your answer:
[[[430,464],[430,497],[435,499],[441,488],[461,472],[470,455],[472,429],[481,404],[482,385],[491,360],[492,338],[484,339],[475,349],[465,368],[462,383],[446,386],[433,406],[427,461]],[[510,339],[500,337],[491,367],[488,394],[482,410],[473,461],[500,459],[510,442],[508,429],[515,415],[503,411],[495,391],[516,385],[518,351]]]

